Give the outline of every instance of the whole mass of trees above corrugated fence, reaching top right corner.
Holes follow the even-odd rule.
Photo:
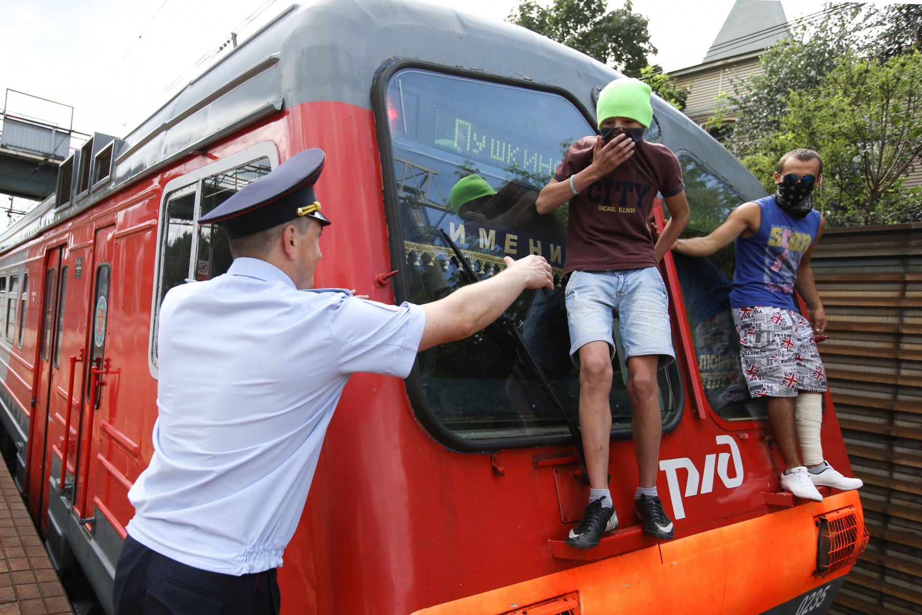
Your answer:
[[[762,55],[762,74],[733,83],[708,127],[738,116],[726,145],[774,192],[793,148],[823,158],[814,207],[830,226],[922,219],[922,190],[902,175],[922,155],[922,6],[828,5]]]

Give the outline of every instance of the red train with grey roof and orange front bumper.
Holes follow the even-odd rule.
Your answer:
[[[318,287],[441,297],[464,281],[440,230],[481,276],[505,254],[560,267],[565,207],[517,225],[463,219],[451,188],[477,172],[511,210],[592,133],[594,96],[615,77],[509,24],[325,0],[285,11],[124,139],[92,136],[61,165],[55,195],[0,236],[0,418],[55,565],[78,562],[111,611],[126,492],[152,452],[161,298],[231,260],[198,217],[323,148],[317,190],[337,224]],[[692,231],[763,195],[680,112],[654,110],[646,137],[680,158]],[[404,382],[351,379],[279,571],[283,612],[825,612],[867,539],[857,493],[824,488],[822,503],[804,503],[779,492],[780,458],[764,408],[742,393],[727,320],[732,249],[668,255],[662,268],[680,354],[660,373],[658,483],[674,540],[644,537],[622,513],[596,549],[564,545],[587,489],[576,447],[516,369],[521,349],[480,334],[420,354]],[[538,291],[510,314],[575,415],[561,309],[559,290]],[[615,368],[611,489],[630,511],[636,465]],[[847,470],[828,395],[825,407],[825,455]]]

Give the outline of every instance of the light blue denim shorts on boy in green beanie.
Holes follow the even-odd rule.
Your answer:
[[[594,341],[604,341],[615,356],[612,336],[618,319],[624,361],[658,354],[659,367],[676,355],[669,325],[666,285],[656,267],[621,271],[573,271],[566,290],[570,357],[579,365],[578,351]]]

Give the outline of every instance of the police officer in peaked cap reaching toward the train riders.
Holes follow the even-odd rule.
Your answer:
[[[424,305],[311,290],[330,224],[313,190],[324,160],[302,151],[199,219],[223,225],[234,261],[160,308],[159,418],[128,492],[120,615],[278,613],[276,568],[349,375],[405,378],[418,351],[479,331],[525,289],[552,288],[548,263],[529,256]]]

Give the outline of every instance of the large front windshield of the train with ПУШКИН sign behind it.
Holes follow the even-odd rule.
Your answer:
[[[556,288],[526,291],[508,314],[577,420],[579,372],[569,357],[561,279],[568,206],[539,216],[535,200],[570,144],[595,132],[592,125],[559,94],[418,68],[396,72],[384,102],[397,197],[389,214],[396,216],[392,230],[401,234],[395,259],[408,291],[400,299],[431,302],[467,283],[440,231],[481,278],[501,270],[503,256],[544,255]],[[453,198],[455,184],[472,175],[479,177],[460,184]],[[462,204],[461,186],[476,198]],[[554,441],[568,433],[566,423],[527,362],[508,337],[491,329],[420,353],[410,381],[420,419],[468,449]],[[629,433],[626,370],[620,361],[614,369],[612,430]],[[667,425],[678,417],[680,384],[675,368],[660,374]]]

